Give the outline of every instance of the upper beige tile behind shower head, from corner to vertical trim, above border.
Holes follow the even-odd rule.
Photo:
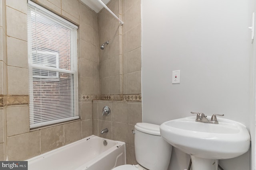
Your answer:
[[[108,7],[119,16],[119,0],[111,0]],[[122,94],[122,26],[103,9],[98,13],[99,46],[109,41],[100,55],[100,94]]]

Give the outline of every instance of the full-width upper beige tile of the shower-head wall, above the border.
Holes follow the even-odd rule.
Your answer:
[[[100,50],[100,94],[141,94],[140,0],[111,0],[108,7],[123,25],[103,9],[98,14]],[[120,78],[113,77],[120,75]],[[114,86],[114,87],[113,87]]]

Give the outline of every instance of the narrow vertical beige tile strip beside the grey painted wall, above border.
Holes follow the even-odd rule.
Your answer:
[[[122,0],[124,94],[141,94],[140,3],[140,0]]]

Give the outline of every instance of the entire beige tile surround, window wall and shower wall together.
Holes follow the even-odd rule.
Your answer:
[[[142,121],[140,0],[108,3],[124,25],[79,0],[33,2],[79,25],[80,119],[30,130],[27,0],[0,0],[0,160],[26,160],[94,134],[126,142],[126,162],[136,164],[131,130]],[[108,117],[104,106],[112,110]]]

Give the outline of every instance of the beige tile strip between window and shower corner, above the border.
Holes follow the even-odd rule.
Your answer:
[[[100,94],[97,14],[79,3],[80,15],[80,94]],[[83,16],[83,17],[81,17]]]

